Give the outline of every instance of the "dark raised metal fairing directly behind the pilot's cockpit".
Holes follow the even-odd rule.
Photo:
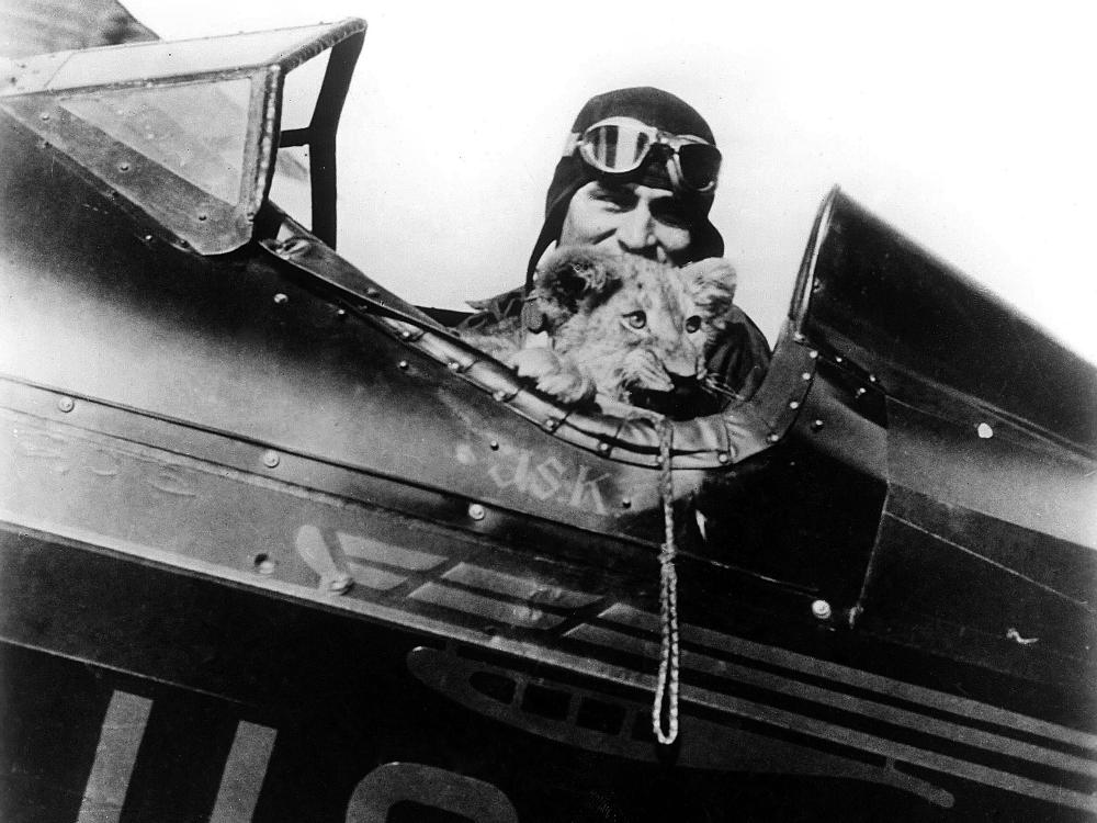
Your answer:
[[[821,230],[811,339],[897,399],[947,387],[1094,455],[1097,368],[838,190]]]

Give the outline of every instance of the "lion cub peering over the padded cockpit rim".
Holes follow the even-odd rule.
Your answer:
[[[521,348],[520,328],[471,339],[567,404],[622,410],[705,377],[709,343],[726,326],[736,274],[723,259],[682,269],[590,246],[559,249],[538,270],[530,300],[550,347]],[[645,406],[652,406],[649,402]]]

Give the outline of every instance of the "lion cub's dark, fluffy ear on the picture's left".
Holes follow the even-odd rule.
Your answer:
[[[621,259],[593,246],[557,249],[538,267],[534,294],[552,327],[589,312],[621,286]]]

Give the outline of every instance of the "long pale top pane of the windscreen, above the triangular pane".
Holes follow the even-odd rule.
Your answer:
[[[57,90],[100,86],[133,78],[156,80],[268,65],[329,31],[331,26],[324,24],[228,37],[142,43],[77,52],[57,70],[47,88]]]

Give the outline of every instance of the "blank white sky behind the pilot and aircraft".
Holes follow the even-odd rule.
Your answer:
[[[1082,2],[124,2],[169,38],[369,22],[340,126],[339,249],[411,302],[521,283],[575,114],[651,84],[716,135],[712,218],[771,342],[838,183],[1097,362]]]

